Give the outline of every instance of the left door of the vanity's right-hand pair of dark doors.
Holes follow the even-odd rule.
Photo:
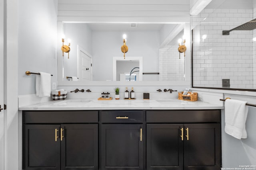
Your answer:
[[[183,124],[147,124],[147,170],[183,170]]]

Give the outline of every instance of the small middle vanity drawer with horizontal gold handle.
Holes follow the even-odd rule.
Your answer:
[[[143,111],[102,111],[102,123],[142,123]]]

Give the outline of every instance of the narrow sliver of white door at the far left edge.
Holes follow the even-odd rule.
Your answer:
[[[4,0],[0,0],[0,170],[4,169]]]

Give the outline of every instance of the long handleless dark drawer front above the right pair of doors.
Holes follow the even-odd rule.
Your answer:
[[[146,111],[147,123],[220,122],[220,110],[154,110]]]

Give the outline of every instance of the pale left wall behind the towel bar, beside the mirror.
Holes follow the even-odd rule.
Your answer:
[[[19,3],[19,95],[36,93],[36,76],[27,76],[26,71],[48,72],[54,75],[52,82],[57,82],[57,6],[57,0],[23,0]]]

